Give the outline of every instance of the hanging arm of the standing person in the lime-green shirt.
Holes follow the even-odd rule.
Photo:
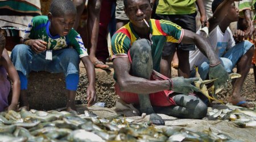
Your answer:
[[[206,11],[205,11],[205,7],[204,7],[204,2],[203,0],[197,0],[196,1],[196,5],[199,9],[199,12],[200,12],[200,15],[201,15],[201,18],[200,18],[200,21],[201,21],[201,27],[205,27],[205,26],[209,26],[209,22],[207,20],[207,15],[206,15]]]

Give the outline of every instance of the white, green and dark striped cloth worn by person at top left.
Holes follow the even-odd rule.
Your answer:
[[[19,30],[21,33],[18,34],[22,36],[33,16],[41,15],[40,7],[40,0],[0,0],[0,27],[6,30]]]

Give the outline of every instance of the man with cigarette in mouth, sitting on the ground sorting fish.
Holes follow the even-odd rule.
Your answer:
[[[139,105],[139,111],[150,115],[153,124],[164,125],[157,115],[201,119],[207,106],[193,91],[198,78],[168,78],[158,73],[163,46],[173,43],[194,43],[210,61],[210,78],[217,89],[229,80],[211,45],[200,35],[184,30],[167,20],[150,19],[150,0],[125,0],[125,13],[130,22],[112,37],[115,91],[126,103]]]

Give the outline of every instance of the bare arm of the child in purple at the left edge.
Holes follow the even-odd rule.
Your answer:
[[[11,81],[13,82],[13,97],[11,99],[11,105],[8,107],[8,110],[16,110],[19,102],[19,94],[20,94],[20,80],[18,73],[11,62],[11,59],[8,55],[6,49],[3,50],[3,66],[5,67]]]

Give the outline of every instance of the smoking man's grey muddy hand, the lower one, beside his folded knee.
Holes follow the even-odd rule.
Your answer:
[[[192,82],[199,81],[199,78],[184,78],[184,77],[175,77],[172,78],[172,91],[176,93],[189,94],[193,91],[200,91],[197,87],[191,85]]]

